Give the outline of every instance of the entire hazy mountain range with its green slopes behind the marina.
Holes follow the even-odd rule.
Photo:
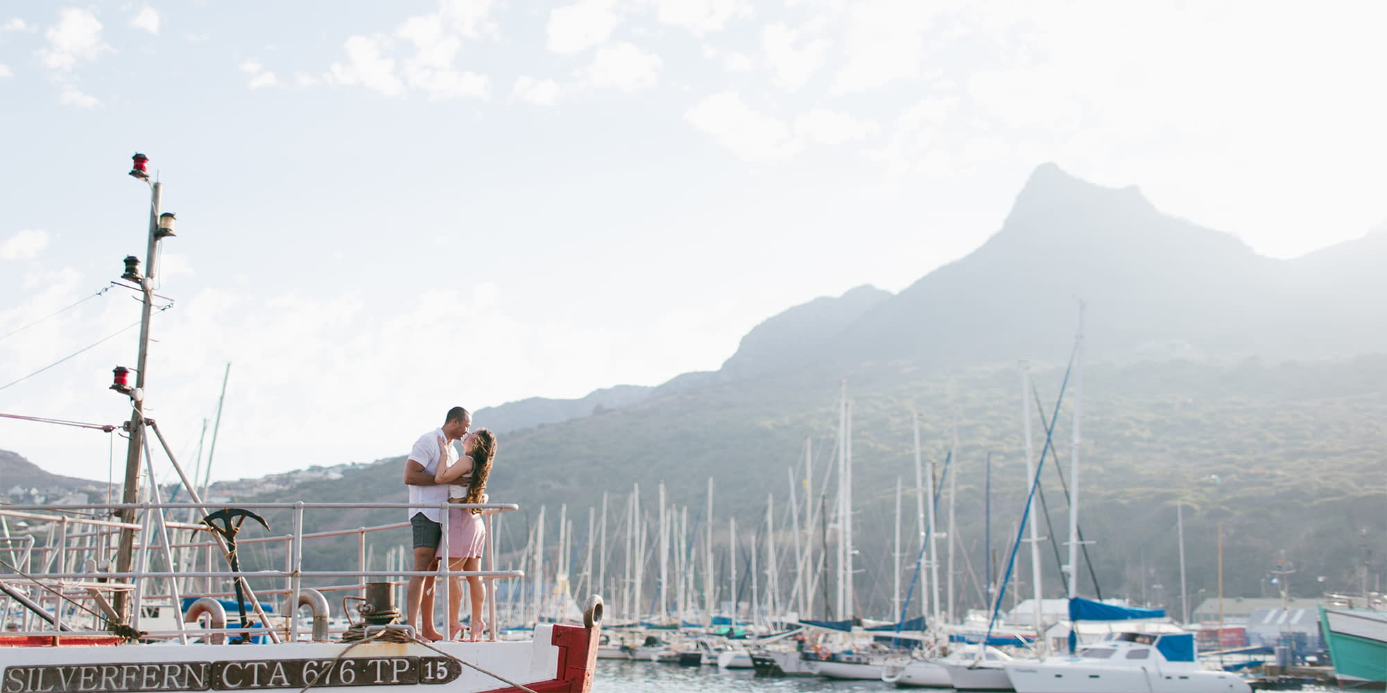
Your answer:
[[[479,424],[506,431],[491,496],[523,507],[502,516],[497,538],[502,552],[524,546],[541,506],[549,509],[545,536],[558,536],[555,509],[565,506],[576,523],[569,536],[583,546],[587,510],[606,503],[609,525],[620,532],[609,539],[609,560],[619,561],[630,523],[617,528],[616,518],[628,517],[637,485],[642,514],[656,516],[663,485],[670,503],[689,510],[691,536],[713,523],[720,561],[734,517],[746,532],[738,536],[748,542],[743,552],[764,539],[767,509],[788,543],[792,489],[800,511],[838,495],[828,470],[846,383],[861,613],[881,614],[892,600],[884,578],[893,552],[890,509],[897,480],[915,478],[913,413],[922,459],[942,463],[958,442],[949,471],[958,486],[951,534],[971,565],[956,577],[964,603],[979,603],[983,511],[992,507],[999,550],[1025,500],[1019,358],[1032,359],[1037,389],[1025,406],[1043,405],[1044,417],[1060,420],[1039,500],[1054,524],[1043,534],[1064,532],[1056,460],[1071,453],[1078,384],[1064,380],[1064,363],[1082,297],[1082,473],[1067,484],[1082,492],[1080,524],[1096,542],[1090,553],[1101,585],[1085,577],[1083,592],[1172,604],[1175,590],[1161,595],[1154,585],[1179,584],[1178,505],[1191,593],[1215,589],[1216,536],[1230,595],[1265,589],[1282,550],[1298,565],[1287,578],[1293,593],[1356,589],[1361,570],[1370,579],[1387,577],[1372,559],[1387,553],[1381,266],[1383,233],[1270,259],[1230,234],[1161,213],[1136,188],[1093,186],[1043,165],[992,238],[899,294],[859,287],[792,306],[749,331],[718,371],[477,412]],[[1061,388],[1065,401],[1056,405]],[[1044,423],[1036,416],[1035,424],[1039,455]],[[806,448],[810,484],[799,471]],[[390,489],[402,499],[402,464],[393,457],[354,466],[338,480],[308,480],[258,499],[381,500]],[[700,510],[710,478],[712,518]],[[286,517],[266,513],[275,527]],[[401,513],[359,509],[348,520],[370,525]],[[401,531],[374,546],[379,553],[406,541]],[[320,568],[355,561],[356,552],[355,542],[305,546]],[[645,556],[653,560],[653,549]],[[1049,554],[1044,560],[1046,581],[1058,592],[1060,572]],[[653,593],[651,586],[646,595]]]

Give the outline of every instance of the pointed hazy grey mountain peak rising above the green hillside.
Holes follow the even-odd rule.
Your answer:
[[[1387,259],[1372,249],[1377,262]],[[1100,358],[1172,345],[1234,358],[1387,346],[1381,320],[1370,330],[1316,320],[1322,310],[1337,316],[1334,306],[1350,297],[1319,281],[1320,272],[1308,269],[1313,263],[1257,255],[1230,234],[1161,213],[1135,187],[1099,187],[1046,164],[988,243],[865,313],[825,360],[910,359],[939,367],[1062,352],[1076,299],[1087,306],[1087,348]],[[1362,279],[1355,291],[1387,295],[1387,274],[1355,276]],[[1330,334],[1308,338],[1300,328],[1305,322]]]

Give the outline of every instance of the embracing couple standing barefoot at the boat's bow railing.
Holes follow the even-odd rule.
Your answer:
[[[448,557],[448,570],[481,570],[481,553],[485,547],[487,525],[483,510],[451,509],[448,517],[441,517],[438,506],[448,503],[485,503],[487,477],[491,475],[491,460],[497,456],[497,438],[491,431],[472,428],[472,414],[460,406],[448,410],[441,427],[434,428],[415,441],[413,450],[405,462],[405,485],[409,488],[409,524],[413,531],[416,571],[438,570],[438,559]],[[454,448],[454,441],[462,441],[462,456]],[[442,525],[448,523],[448,546],[440,546]],[[451,578],[448,622],[449,638],[462,633],[458,608],[462,603],[462,578]],[[469,639],[481,639],[487,628],[481,620],[481,604],[487,597],[480,577],[467,578],[467,593],[472,597],[472,632]],[[406,617],[420,638],[441,640],[434,628],[434,578],[409,578],[406,593]],[[422,617],[422,618],[420,618]]]

